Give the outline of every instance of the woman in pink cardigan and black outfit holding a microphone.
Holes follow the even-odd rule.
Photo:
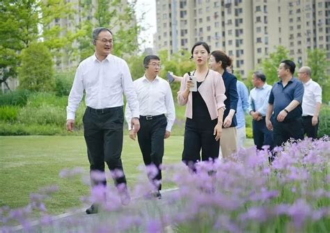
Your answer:
[[[210,47],[205,42],[196,42],[191,49],[191,58],[196,64],[191,76],[196,77],[197,91],[190,90],[194,82],[189,79],[189,74],[184,74],[178,103],[187,105],[182,161],[194,170],[197,161],[213,160],[219,156],[226,95],[221,74],[207,66]]]

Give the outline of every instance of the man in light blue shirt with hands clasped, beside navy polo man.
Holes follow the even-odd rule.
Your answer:
[[[273,132],[266,126],[266,111],[268,99],[272,86],[266,83],[266,76],[262,72],[256,71],[252,75],[254,88],[250,90],[248,113],[252,117],[253,141],[258,150],[262,150],[263,145],[269,145],[269,150],[273,150]]]

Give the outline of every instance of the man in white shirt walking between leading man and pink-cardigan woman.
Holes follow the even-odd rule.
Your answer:
[[[162,198],[162,159],[164,156],[164,138],[171,135],[175,120],[175,107],[171,87],[168,81],[158,77],[160,59],[148,55],[143,59],[145,74],[134,81],[134,88],[139,100],[141,128],[138,135],[139,146],[144,164],[147,166],[148,178],[155,188],[152,193]],[[126,105],[125,117],[129,126],[129,138],[135,140],[136,131],[131,127],[132,108]],[[155,166],[157,172],[150,166]]]

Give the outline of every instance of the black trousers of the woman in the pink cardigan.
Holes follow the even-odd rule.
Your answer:
[[[219,157],[219,140],[213,135],[218,120],[186,120],[182,161],[194,170],[197,161],[208,161]],[[202,150],[202,156],[200,154]]]

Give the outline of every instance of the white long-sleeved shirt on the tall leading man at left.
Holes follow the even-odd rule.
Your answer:
[[[102,62],[95,54],[81,61],[70,91],[67,119],[74,120],[75,112],[86,92],[86,105],[93,109],[123,106],[123,93],[134,118],[139,118],[139,102],[127,63],[109,54]]]

